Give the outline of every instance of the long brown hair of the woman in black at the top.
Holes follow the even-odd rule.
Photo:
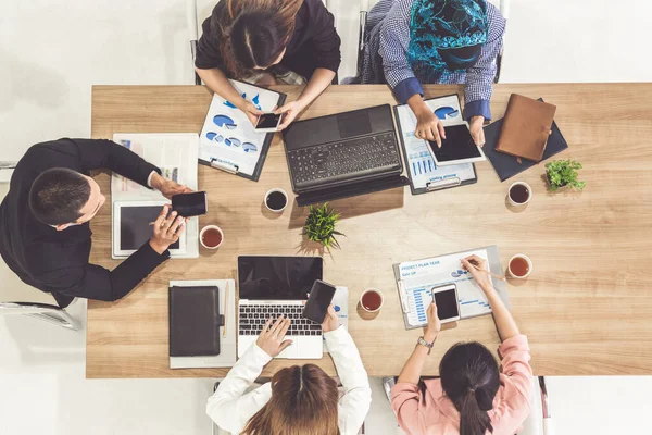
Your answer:
[[[236,78],[267,67],[286,49],[303,0],[223,0],[211,16],[212,37]]]

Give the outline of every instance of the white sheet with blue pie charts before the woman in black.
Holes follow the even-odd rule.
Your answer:
[[[285,94],[230,80],[243,99],[263,112],[285,102]],[[247,115],[217,94],[199,138],[199,163],[258,181],[274,133],[258,133]]]

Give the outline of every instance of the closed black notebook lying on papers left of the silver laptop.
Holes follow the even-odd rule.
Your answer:
[[[216,286],[170,287],[170,356],[220,355],[220,289]]]

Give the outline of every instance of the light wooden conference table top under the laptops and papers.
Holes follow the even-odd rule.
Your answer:
[[[300,90],[278,89],[289,101]],[[462,87],[426,87],[427,97],[453,92]],[[513,212],[505,206],[510,183],[500,183],[482,162],[475,185],[419,196],[405,187],[333,202],[347,237],[341,249],[323,253],[324,278],[349,287],[349,331],[369,375],[397,375],[422,334],[404,328],[392,264],[493,244],[503,265],[518,252],[534,261],[529,279],[510,282],[509,293],[529,337],[535,374],[652,374],[652,84],[498,85],[496,120],[512,92],[557,105],[555,120],[570,145],[560,157],[584,164],[585,191],[548,194],[540,164],[514,178],[529,183],[535,195],[525,211]],[[210,100],[200,86],[96,86],[92,137],[200,132]],[[396,103],[386,86],[331,86],[302,119],[381,103]],[[109,176],[97,179],[109,195]],[[301,236],[305,210],[294,203],[277,216],[262,204],[272,187],[291,191],[278,135],[260,182],[199,166],[199,187],[209,191],[211,210],[200,225],[218,224],[223,247],[202,250],[196,260],[167,261],[121,301],[89,301],[87,377],[224,376],[226,369],[170,369],[168,281],[236,278],[238,254],[319,253]],[[110,223],[104,207],[91,223],[91,261],[114,268]],[[356,310],[369,287],[386,298],[375,319]],[[441,356],[460,340],[496,349],[491,316],[442,332],[424,375],[437,374]],[[297,363],[275,360],[263,375]],[[327,356],[316,363],[334,373]]]

